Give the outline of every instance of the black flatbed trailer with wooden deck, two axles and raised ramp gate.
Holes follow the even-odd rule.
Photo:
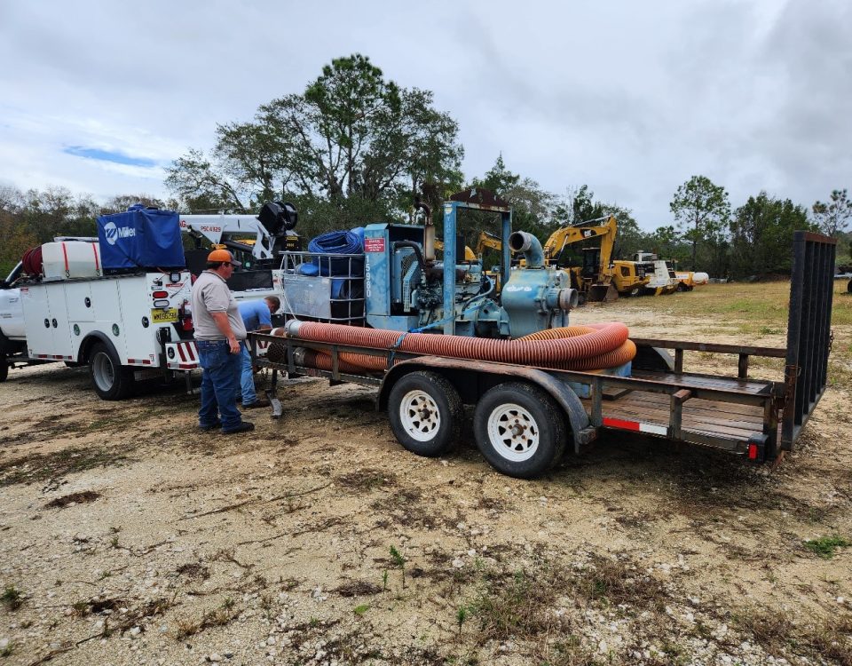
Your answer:
[[[631,338],[638,349],[631,377],[265,334],[251,334],[250,345],[253,353],[268,345],[265,356],[255,355],[257,365],[272,369],[273,400],[280,373],[375,386],[377,408],[388,410],[397,439],[419,455],[450,450],[461,432],[461,405],[475,406],[477,446],[489,463],[511,476],[546,472],[564,448],[579,454],[605,431],[721,448],[753,463],[775,462],[793,450],[825,389],[835,245],[834,239],[809,232],[794,236],[785,348]],[[331,369],[300,365],[299,348],[329,354]],[[686,352],[735,355],[737,376],[689,372]],[[341,372],[341,353],[383,357],[385,369]],[[783,377],[750,377],[749,361],[761,357],[784,359]],[[281,413],[280,402],[276,412]]]

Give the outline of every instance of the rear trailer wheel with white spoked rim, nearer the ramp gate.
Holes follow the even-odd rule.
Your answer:
[[[559,462],[567,432],[564,414],[539,388],[520,382],[494,386],[473,415],[479,451],[494,469],[532,479]]]

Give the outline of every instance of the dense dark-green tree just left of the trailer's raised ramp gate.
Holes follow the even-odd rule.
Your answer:
[[[750,196],[730,222],[731,274],[768,275],[789,273],[792,267],[793,232],[807,229],[808,210],[761,192]]]

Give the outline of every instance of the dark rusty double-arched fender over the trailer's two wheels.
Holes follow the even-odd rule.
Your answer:
[[[596,429],[590,427],[586,409],[571,386],[548,375],[544,370],[509,363],[449,359],[441,356],[419,356],[410,361],[401,361],[385,375],[376,397],[376,407],[387,409],[388,396],[393,385],[399,377],[416,370],[431,370],[446,377],[459,392],[462,402],[468,405],[476,404],[479,397],[493,386],[509,379],[521,379],[548,392],[563,409],[571,427],[575,453],[579,453],[581,446],[596,438]]]

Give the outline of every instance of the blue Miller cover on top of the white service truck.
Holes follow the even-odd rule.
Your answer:
[[[98,218],[100,257],[106,271],[183,268],[180,219],[172,210],[130,206]]]

